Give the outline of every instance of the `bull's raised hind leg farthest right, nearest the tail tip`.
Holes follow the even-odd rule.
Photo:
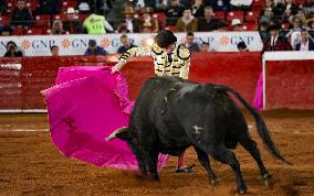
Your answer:
[[[244,137],[242,138],[240,141],[241,145],[250,152],[250,154],[253,156],[253,159],[257,161],[259,167],[260,167],[260,171],[261,171],[261,174],[262,174],[262,177],[264,179],[264,183],[265,183],[265,186],[269,187],[269,184],[270,184],[270,178],[271,178],[271,175],[269,174],[268,170],[265,168],[265,165],[261,159],[261,154],[260,154],[260,151],[257,146],[257,142],[254,142],[253,140],[251,140],[250,138],[248,137]]]

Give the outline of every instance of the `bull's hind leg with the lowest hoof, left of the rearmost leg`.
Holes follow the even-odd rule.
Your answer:
[[[247,192],[247,186],[243,181],[240,164],[236,157],[236,154],[229,151],[223,144],[220,146],[214,146],[210,149],[209,154],[220,161],[221,163],[229,164],[234,172],[237,178],[237,192],[239,194],[244,194]]]

